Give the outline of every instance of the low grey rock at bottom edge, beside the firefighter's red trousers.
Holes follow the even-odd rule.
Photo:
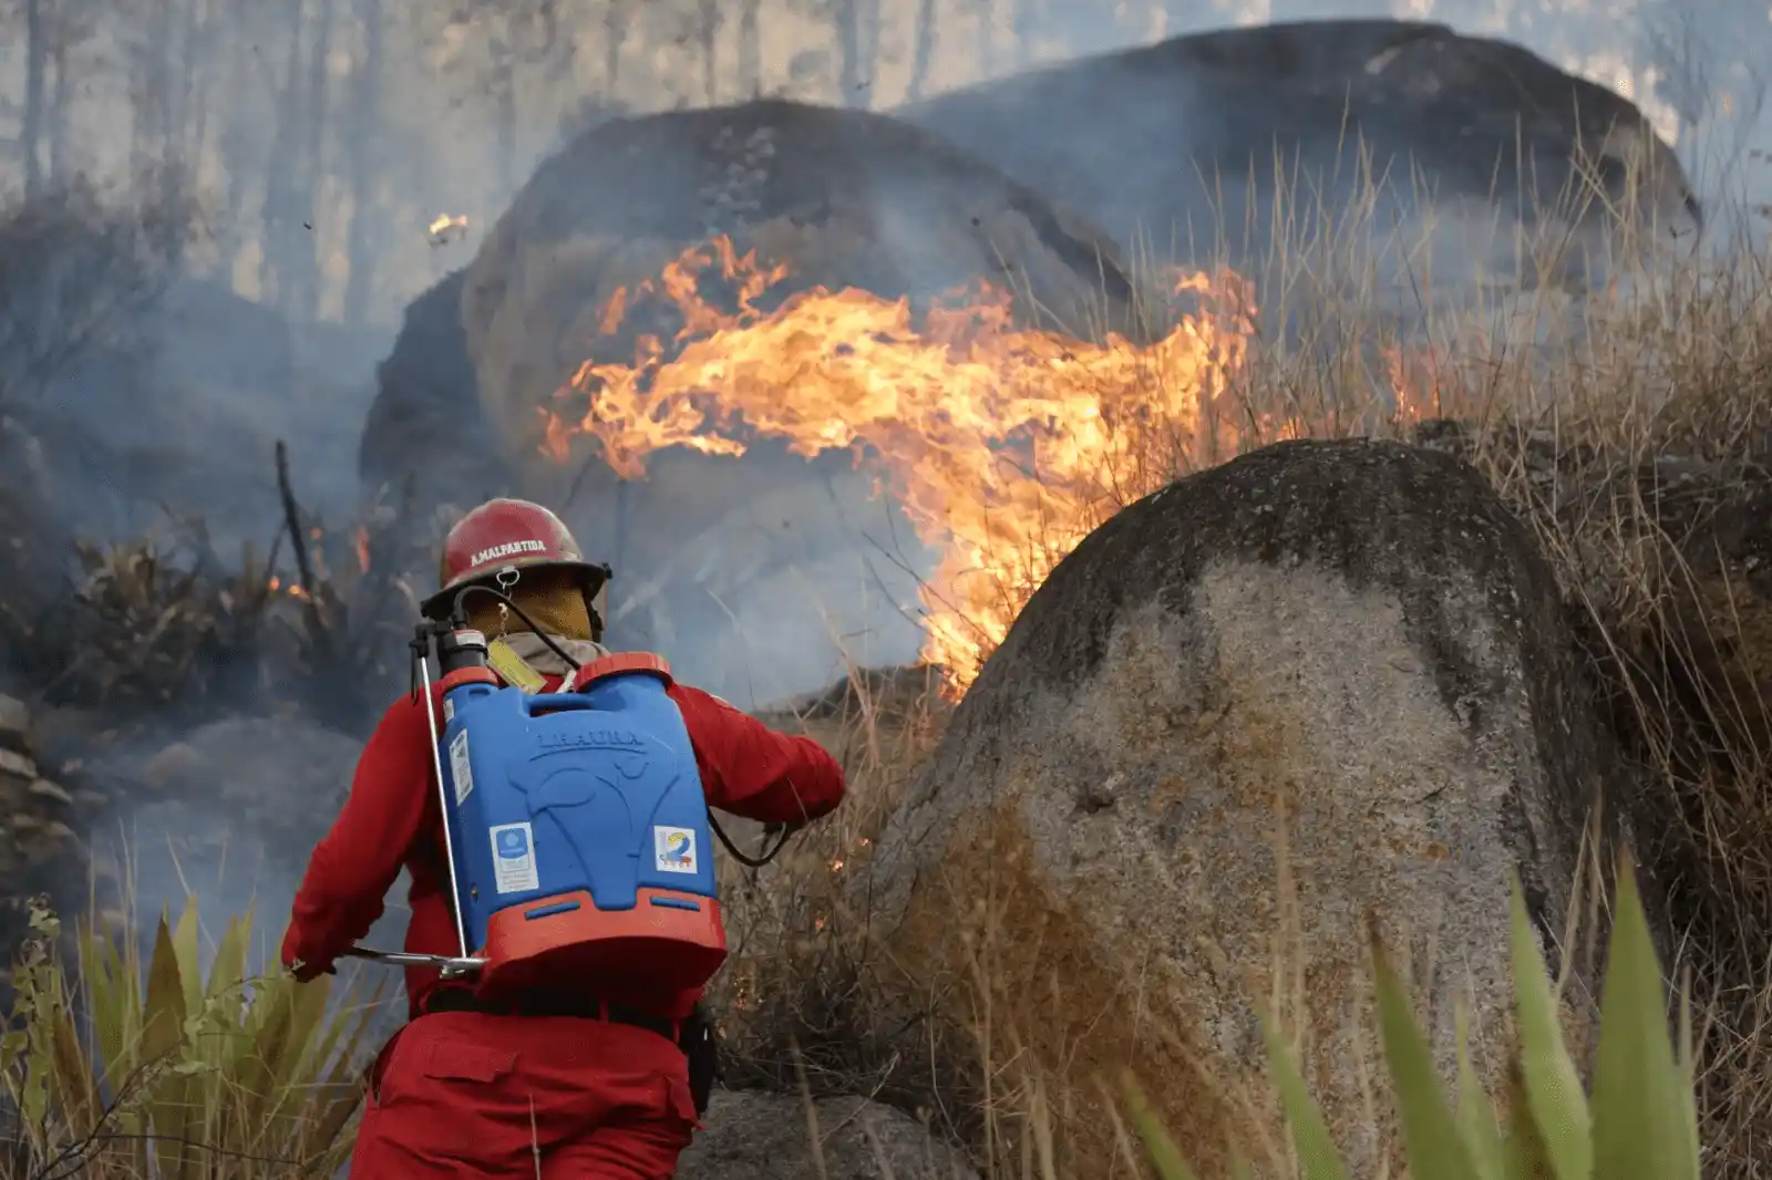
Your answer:
[[[976,1180],[966,1155],[867,1098],[716,1091],[677,1180]]]

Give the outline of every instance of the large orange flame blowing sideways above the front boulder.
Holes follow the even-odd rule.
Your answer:
[[[716,273],[734,312],[700,294]],[[1212,312],[1150,345],[1088,344],[1015,326],[1008,294],[987,283],[921,314],[822,287],[760,310],[785,276],[716,239],[618,291],[604,333],[641,301],[673,305],[682,330],[641,335],[631,365],[581,365],[542,409],[542,450],[565,462],[590,436],[626,477],[664,446],[742,455],[762,436],[804,457],[854,450],[943,555],[921,592],[923,659],[955,695],[1088,532],[1196,455],[1255,310],[1235,275],[1191,275],[1177,291]]]

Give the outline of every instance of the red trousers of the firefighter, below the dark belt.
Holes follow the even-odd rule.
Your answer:
[[[696,1127],[657,1033],[438,1012],[381,1051],[351,1180],[670,1180]]]

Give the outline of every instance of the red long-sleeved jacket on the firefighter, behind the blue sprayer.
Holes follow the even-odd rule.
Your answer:
[[[553,691],[558,680],[548,682]],[[670,698],[682,710],[707,803],[764,824],[819,819],[843,799],[843,771],[819,742],[771,730],[727,702],[684,684]],[[436,687],[432,700],[441,700]],[[438,709],[438,732],[441,732]],[[406,868],[411,923],[406,950],[455,955],[455,918],[443,859],[443,817],[431,764],[431,732],[418,700],[402,696],[363,748],[351,797],[314,849],[284,934],[285,966],[326,969],[381,918],[383,898]],[[436,987],[434,967],[406,969],[411,1015]],[[657,1003],[682,1019],[700,992]],[[650,1006],[650,1005],[649,1005]]]

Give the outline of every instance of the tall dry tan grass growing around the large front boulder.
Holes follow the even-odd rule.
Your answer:
[[[1402,436],[1483,471],[1552,560],[1641,772],[1632,803],[1644,843],[1655,836],[1641,852],[1671,897],[1680,969],[1705,1005],[1706,1175],[1772,1175],[1768,259],[1660,264],[1584,301],[1559,289],[1442,291],[1398,314],[1370,285],[1373,255],[1407,255],[1411,243],[1348,221],[1299,225],[1283,237],[1302,245],[1269,259],[1279,296],[1260,308],[1228,392],[1193,429],[1145,423],[1150,438],[1122,452],[1139,455],[1138,470],[1104,471],[1076,494],[1111,514],[1168,478],[1294,436]],[[1535,248],[1520,271],[1572,269],[1568,241]],[[1333,301],[1318,298],[1331,291]],[[897,1001],[861,985],[893,964],[856,912],[865,898],[838,882],[939,737],[944,705],[925,695],[888,716],[868,684],[851,684],[845,716],[804,725],[843,758],[852,803],[755,882],[725,1012],[732,1068],[739,1081],[792,1083],[799,1063],[812,1090],[874,1093],[964,1136],[991,1175],[1051,1175],[1079,1097],[1012,1068],[1006,1022],[985,1035],[975,1019],[960,1040],[918,1024],[937,1006],[918,998],[1001,996],[1005,982],[900,980]]]

